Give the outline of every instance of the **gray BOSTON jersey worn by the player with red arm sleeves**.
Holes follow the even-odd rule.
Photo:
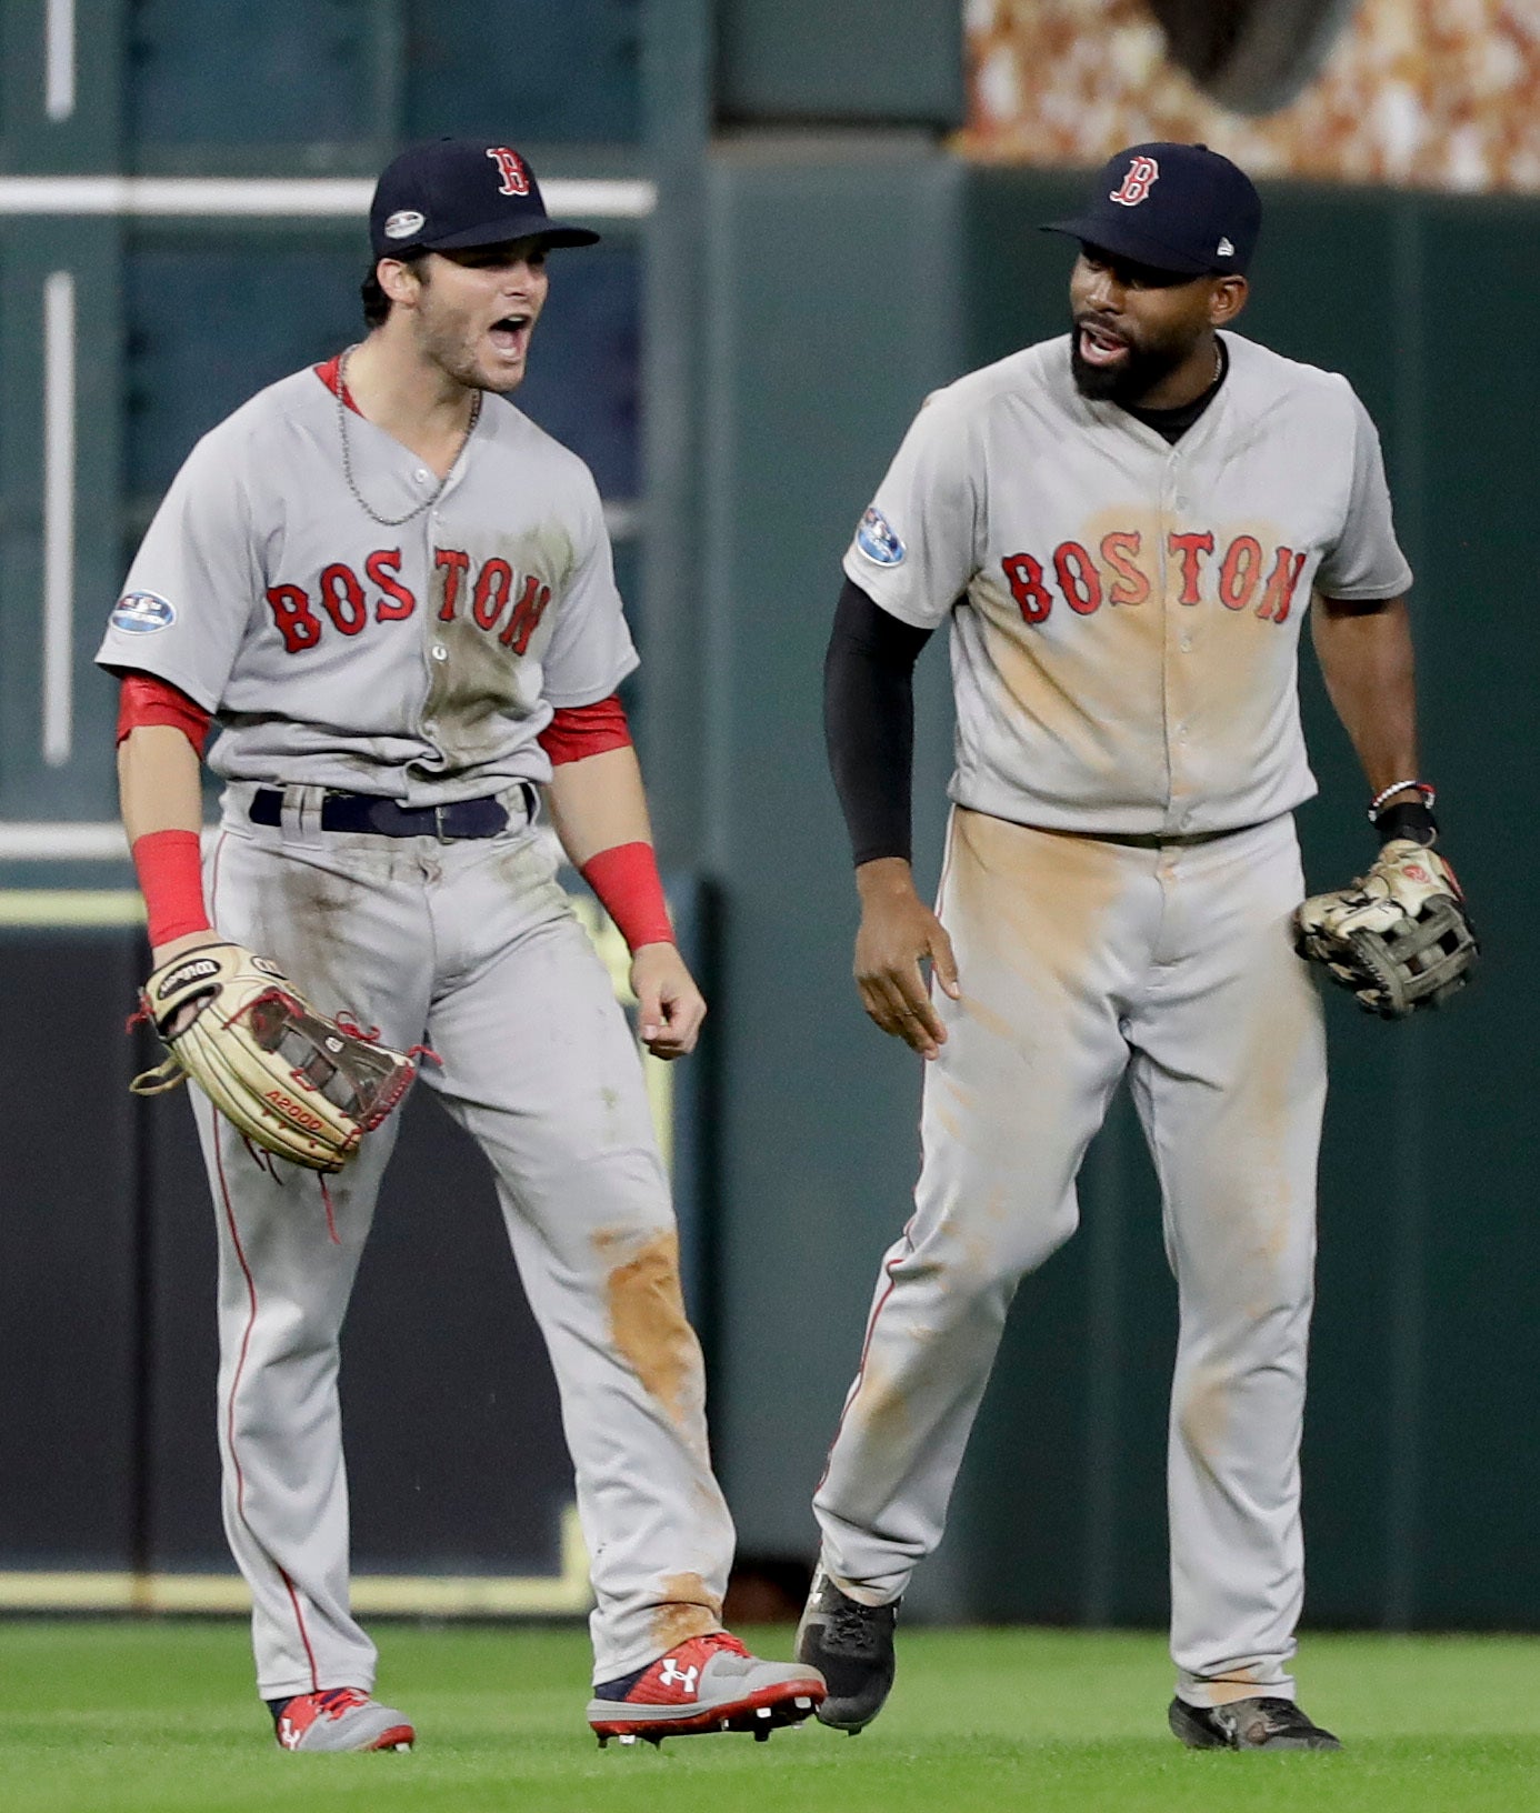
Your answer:
[[[98,662],[216,711],[210,767],[437,805],[546,781],[557,705],[637,665],[582,461],[488,395],[432,509],[352,499],[312,372],[198,442],[129,571]],[[404,517],[437,480],[348,412],[356,482]]]

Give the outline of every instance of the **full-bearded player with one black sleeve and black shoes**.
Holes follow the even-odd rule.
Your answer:
[[[798,1632],[858,1731],[894,1673],[1021,1276],[1076,1229],[1123,1077],[1181,1304],[1172,1731],[1335,1750],[1295,1701],[1299,1438],[1326,1082],[1321,957],[1364,1006],[1475,955],[1418,778],[1411,573],[1350,384],[1233,332],[1261,227],[1203,145],[1136,145],[1056,232],[1072,332],[932,395],[845,555],[825,723],[867,1013],[925,1059],[914,1215],[887,1251],[818,1487]],[[1310,609],[1379,858],[1302,905]],[[950,618],[956,772],[932,914],[911,876],[911,676]],[[931,970],[934,994],[925,986]]]

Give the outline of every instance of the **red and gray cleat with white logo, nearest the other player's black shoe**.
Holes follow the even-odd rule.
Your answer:
[[[695,1731],[753,1731],[765,1739],[780,1724],[800,1724],[824,1699],[824,1675],[805,1663],[765,1663],[736,1637],[716,1630],[691,1637],[655,1663],[595,1688],[588,1722],[599,1748],[619,1737],[660,1744]]]

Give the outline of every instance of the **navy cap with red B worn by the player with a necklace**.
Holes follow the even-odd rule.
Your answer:
[[[368,210],[375,257],[463,252],[539,238],[546,245],[597,245],[588,227],[553,221],[535,172],[512,145],[439,138],[385,167]]]

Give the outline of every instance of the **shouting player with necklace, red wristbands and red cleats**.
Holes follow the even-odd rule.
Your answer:
[[[414,1742],[348,1610],[337,1334],[421,1070],[492,1162],[560,1387],[591,1728],[764,1737],[824,1682],[722,1628],[733,1527],[637,1048],[531,834],[544,800],[631,946],[642,1041],[687,1053],[706,1006],[617,698],[637,654],[599,493],[508,401],[548,250],[597,234],[546,216],[517,150],[461,140],[397,158],[370,230],[366,339],[192,450],[98,654],[122,676],[158,1075],[203,1086],[258,1692],[288,1750]],[[210,725],[223,819],[200,863]]]

